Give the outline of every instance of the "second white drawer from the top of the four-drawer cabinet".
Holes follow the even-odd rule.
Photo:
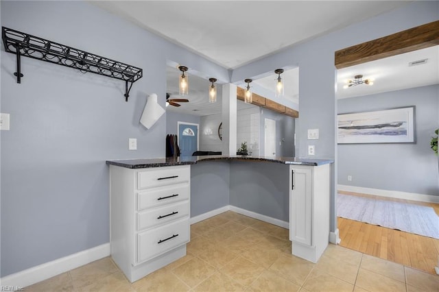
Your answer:
[[[189,183],[173,184],[141,191],[137,194],[137,210],[189,199],[190,191]]]

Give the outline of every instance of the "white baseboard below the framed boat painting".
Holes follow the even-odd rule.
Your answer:
[[[364,188],[362,186],[346,186],[345,184],[337,185],[338,191],[353,193],[364,193],[368,195],[379,195],[381,197],[392,197],[396,199],[410,199],[411,201],[427,202],[439,204],[439,195],[425,195],[418,193],[406,193],[401,191],[380,190],[378,188]]]

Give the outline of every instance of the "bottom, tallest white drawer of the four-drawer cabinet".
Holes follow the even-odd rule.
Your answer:
[[[181,219],[137,235],[137,263],[189,242],[189,219]]]

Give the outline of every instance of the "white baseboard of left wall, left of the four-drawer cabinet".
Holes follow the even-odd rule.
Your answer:
[[[64,258],[58,258],[49,263],[25,269],[24,271],[12,273],[1,278],[1,287],[14,287],[14,290],[20,290],[20,287],[27,287],[52,278],[60,273],[81,267],[106,256],[110,256],[110,243],[104,243],[89,250],[64,256]]]

